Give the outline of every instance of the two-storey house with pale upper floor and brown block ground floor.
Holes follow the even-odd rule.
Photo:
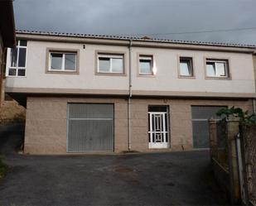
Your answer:
[[[220,108],[254,111],[254,51],[17,31],[6,92],[27,107],[26,153],[207,148]]]

